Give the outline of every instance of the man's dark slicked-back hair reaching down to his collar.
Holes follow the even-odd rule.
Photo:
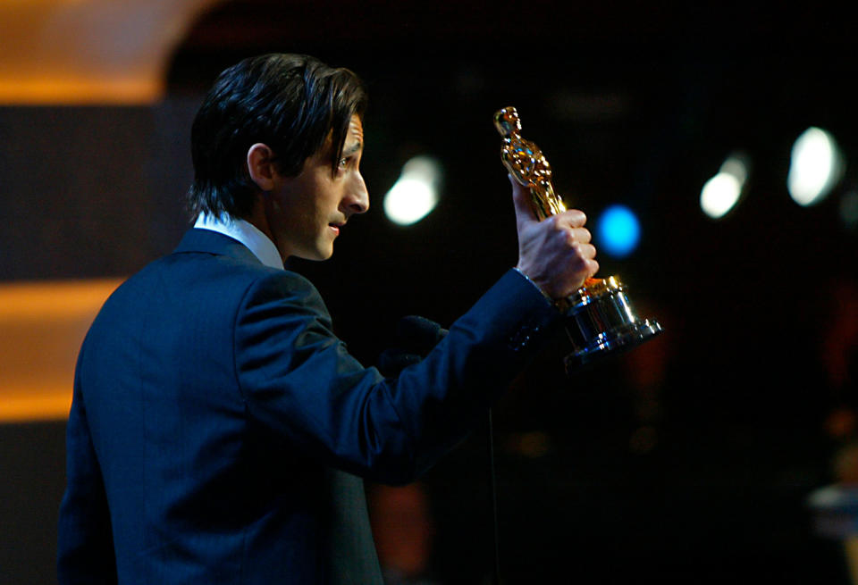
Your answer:
[[[314,57],[265,54],[233,65],[214,81],[191,128],[190,212],[250,213],[258,188],[248,175],[247,155],[257,142],[271,147],[278,172],[295,176],[331,133],[334,171],[349,121],[365,109],[357,75]]]

